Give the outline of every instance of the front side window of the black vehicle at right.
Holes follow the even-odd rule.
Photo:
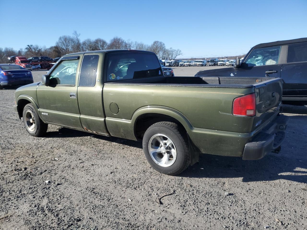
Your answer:
[[[254,49],[245,60],[249,66],[266,66],[278,64],[280,46]]]

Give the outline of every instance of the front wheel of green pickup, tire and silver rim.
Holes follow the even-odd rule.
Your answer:
[[[25,105],[22,113],[25,129],[31,136],[43,136],[47,132],[48,124],[45,124],[33,106],[33,104]]]

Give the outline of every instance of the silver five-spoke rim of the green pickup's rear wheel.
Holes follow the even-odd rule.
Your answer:
[[[173,141],[164,134],[154,135],[148,144],[151,158],[161,167],[173,165],[177,158],[177,150]]]

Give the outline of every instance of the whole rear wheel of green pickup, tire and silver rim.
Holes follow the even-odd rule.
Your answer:
[[[164,174],[177,175],[190,163],[188,136],[173,122],[151,125],[143,137],[143,151],[148,163]]]

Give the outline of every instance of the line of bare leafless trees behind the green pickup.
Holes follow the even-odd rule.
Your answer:
[[[182,55],[180,49],[166,48],[161,41],[154,41],[152,44],[144,44],[143,42],[124,40],[121,37],[114,37],[109,42],[102,38],[80,40],[80,33],[74,31],[72,35],[60,36],[54,46],[46,48],[46,46],[27,45],[25,49],[14,50],[10,47],[0,47],[0,63],[8,63],[10,56],[39,57],[48,56],[51,58],[61,57],[65,54],[106,50],[106,49],[137,49],[154,52],[159,59],[173,60],[177,56]]]

